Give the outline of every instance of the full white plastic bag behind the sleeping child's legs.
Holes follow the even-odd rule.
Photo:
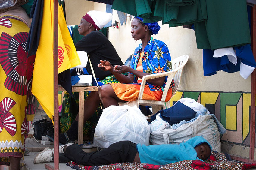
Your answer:
[[[107,148],[123,140],[149,145],[148,121],[136,106],[109,106],[95,128],[94,145]]]

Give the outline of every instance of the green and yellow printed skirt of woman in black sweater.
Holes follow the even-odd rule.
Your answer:
[[[98,82],[99,85],[108,84],[108,83],[120,83],[118,82],[113,75],[105,77],[105,79]],[[89,92],[85,91],[84,99],[88,97]],[[66,132],[72,122],[75,120],[76,115],[78,114],[78,106],[79,106],[79,92],[73,92],[74,98],[70,97],[68,93],[64,94],[62,101],[62,110],[61,110],[61,119],[60,119],[60,129],[61,133]],[[89,136],[93,139],[92,130],[96,127],[100,115],[102,113],[102,109],[99,106],[95,113],[89,118],[83,127],[84,135]]]

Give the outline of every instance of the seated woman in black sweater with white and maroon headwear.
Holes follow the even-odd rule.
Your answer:
[[[111,19],[111,13],[92,10],[82,17],[80,24],[78,25],[78,33],[84,37],[75,43],[76,50],[85,51],[89,55],[99,86],[107,83],[119,83],[111,72],[98,69],[100,60],[108,60],[112,65],[123,65],[114,46],[108,38],[99,31],[111,21]],[[90,75],[92,75],[92,68],[88,61],[86,70]],[[87,98],[92,98],[93,93],[94,92],[90,92],[89,94],[86,92],[85,100],[88,100]],[[68,93],[64,94],[60,120],[62,132],[59,134],[60,143],[65,144],[67,141],[75,141],[78,136],[78,101],[79,94],[77,92],[73,93],[73,97]],[[97,103],[91,103],[90,105],[95,109],[91,111],[91,115],[85,115],[84,134],[85,136],[93,137],[93,133],[91,132],[92,129],[96,127],[102,110],[98,107],[99,104]],[[53,137],[52,131],[48,131],[47,133],[49,136]]]

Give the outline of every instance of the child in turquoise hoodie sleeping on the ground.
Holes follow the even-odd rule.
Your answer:
[[[79,165],[108,165],[123,162],[165,165],[183,160],[207,160],[211,155],[210,143],[201,136],[195,136],[180,144],[141,145],[131,141],[113,143],[100,151],[86,153],[80,146],[68,143],[59,146],[69,161]],[[45,148],[39,152],[34,163],[51,162],[54,149]]]

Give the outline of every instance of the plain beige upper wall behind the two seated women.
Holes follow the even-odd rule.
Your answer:
[[[89,10],[105,11],[106,5],[103,3],[93,3],[91,1],[71,1],[66,0],[67,25],[78,25],[81,17]],[[72,4],[72,5],[71,5]],[[112,23],[117,20],[119,29],[109,27],[109,40],[114,45],[117,53],[125,62],[136,46],[141,43],[131,37],[130,17],[127,17],[126,25],[120,25],[116,10],[113,10]],[[161,29],[153,38],[165,42],[170,50],[172,58],[180,55],[189,55],[189,61],[184,68],[179,90],[184,91],[244,91],[250,90],[250,77],[243,79],[239,72],[226,73],[217,72],[213,76],[203,76],[202,50],[196,48],[195,32],[191,29],[180,27],[169,28],[158,22]],[[113,29],[114,28],[114,29]]]

